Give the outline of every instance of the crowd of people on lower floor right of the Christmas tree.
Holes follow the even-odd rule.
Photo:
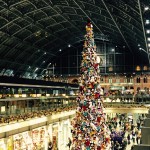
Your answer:
[[[113,118],[108,116],[112,150],[126,150],[128,145],[132,145],[132,149],[134,144],[140,144],[143,121],[144,115],[139,115],[137,120],[128,118],[125,114],[117,114]]]

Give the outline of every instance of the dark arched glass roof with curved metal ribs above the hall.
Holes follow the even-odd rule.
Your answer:
[[[1,0],[0,71],[40,74],[60,49],[83,40],[87,18],[95,38],[105,36],[149,62],[145,6],[148,0]]]

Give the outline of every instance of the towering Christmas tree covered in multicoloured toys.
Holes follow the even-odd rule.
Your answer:
[[[74,150],[110,150],[110,131],[106,125],[100,86],[100,58],[96,54],[93,26],[86,25],[82,52],[76,117],[72,120]]]

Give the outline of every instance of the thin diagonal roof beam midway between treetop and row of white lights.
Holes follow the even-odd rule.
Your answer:
[[[122,32],[121,32],[121,30],[120,30],[119,26],[117,25],[117,23],[116,23],[116,21],[115,21],[114,17],[112,16],[111,12],[109,11],[108,7],[106,6],[105,1],[104,1],[104,0],[101,0],[101,1],[102,1],[102,3],[104,4],[104,6],[105,6],[105,8],[106,8],[107,12],[108,12],[108,13],[109,13],[109,15],[111,16],[111,18],[112,18],[112,20],[113,20],[114,24],[116,25],[116,27],[117,27],[117,29],[118,29],[119,33],[121,34],[122,38],[124,39],[124,41],[125,41],[125,43],[126,43],[126,45],[128,46],[128,48],[130,49],[131,53],[133,54],[132,49],[130,48],[130,46],[129,46],[128,42],[126,41],[126,39],[125,39],[124,35],[122,34]]]

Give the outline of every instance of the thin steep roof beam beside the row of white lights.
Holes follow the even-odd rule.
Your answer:
[[[149,60],[149,64],[150,64],[150,55],[148,53],[148,43],[147,43],[147,40],[146,40],[145,27],[144,27],[144,22],[143,22],[143,16],[142,16],[140,0],[138,0],[138,6],[139,6],[139,11],[140,11],[140,17],[141,17],[141,23],[142,23],[142,28],[143,28],[144,39],[145,39],[146,52],[147,52],[147,56],[148,56],[148,60]]]

